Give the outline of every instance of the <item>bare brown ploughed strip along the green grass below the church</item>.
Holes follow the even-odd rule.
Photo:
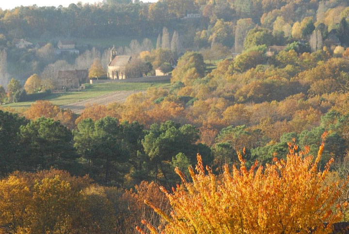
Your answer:
[[[117,91],[117,92],[112,92],[110,94],[102,95],[102,96],[91,98],[91,99],[69,103],[66,105],[62,105],[60,107],[63,109],[70,109],[72,112],[76,114],[80,114],[87,104],[107,105],[112,102],[124,102],[128,96],[134,93],[139,93],[139,92],[145,92],[145,91],[140,91],[140,90]]]

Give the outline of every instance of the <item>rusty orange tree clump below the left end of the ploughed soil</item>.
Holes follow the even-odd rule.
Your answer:
[[[76,115],[71,110],[63,110],[59,106],[52,104],[48,100],[37,100],[24,112],[26,118],[35,120],[40,117],[60,120],[68,128],[75,127]]]

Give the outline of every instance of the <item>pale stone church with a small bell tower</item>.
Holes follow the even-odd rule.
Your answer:
[[[111,60],[108,65],[108,78],[113,80],[126,79],[125,68],[131,61],[130,55],[117,55],[115,46],[111,49]]]

